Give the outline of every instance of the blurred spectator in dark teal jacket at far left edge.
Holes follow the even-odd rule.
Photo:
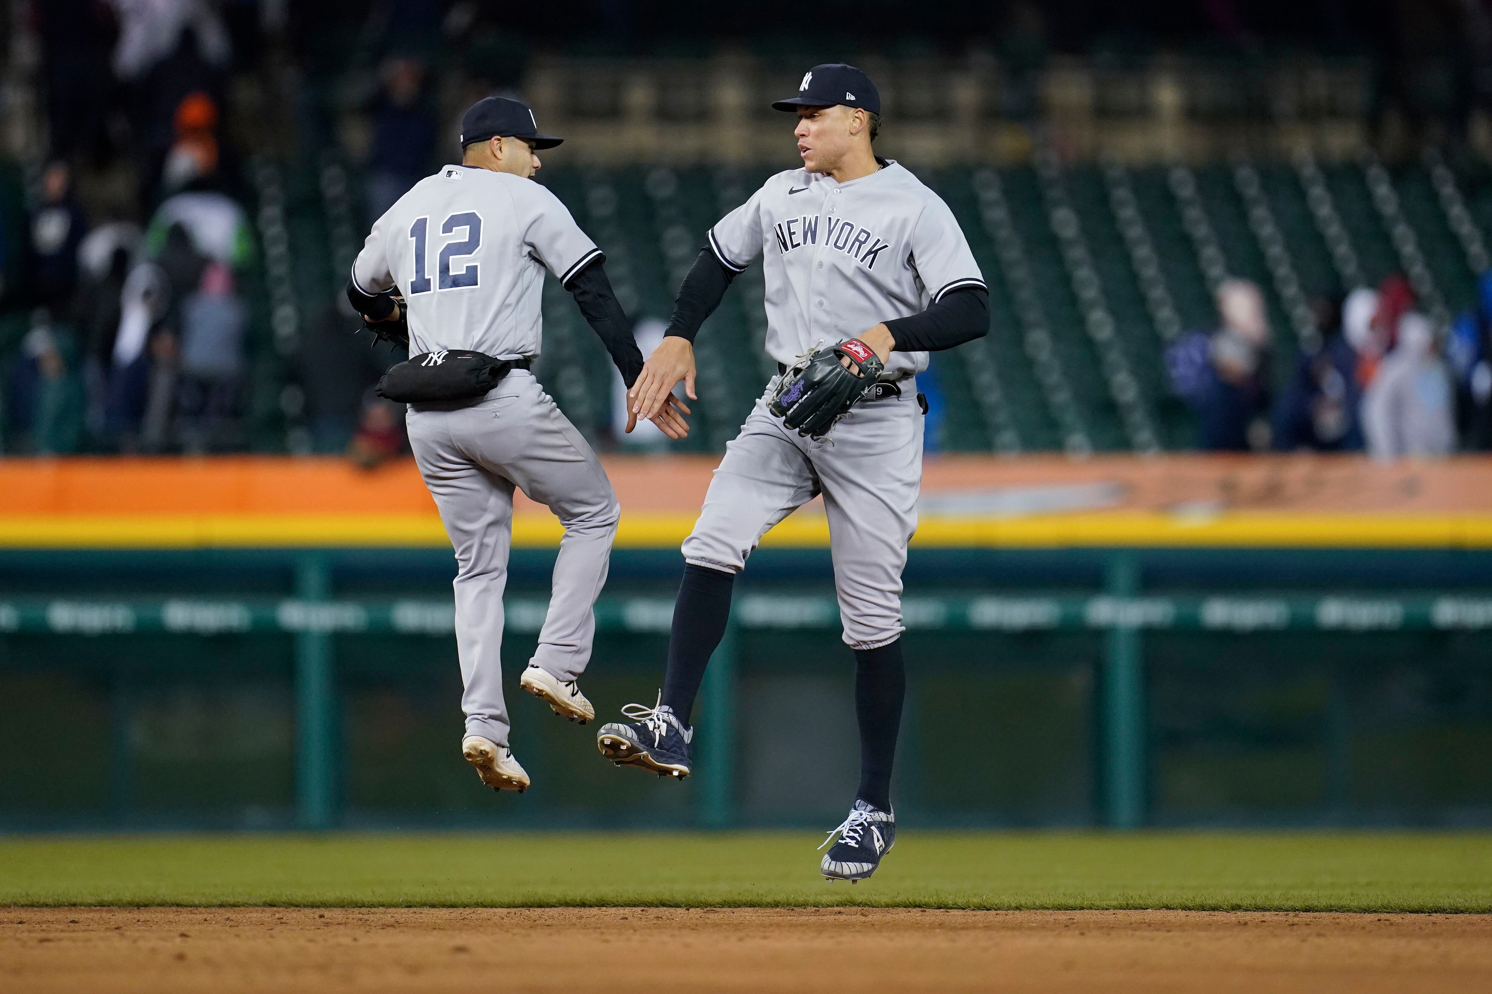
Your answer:
[[[82,443],[84,389],[76,338],[52,325],[46,308],[31,317],[21,355],[10,368],[9,423],[18,447],[36,455],[67,455]]]

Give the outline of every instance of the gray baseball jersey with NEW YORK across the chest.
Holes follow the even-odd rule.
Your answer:
[[[953,212],[895,161],[840,183],[807,170],[768,179],[710,229],[710,250],[740,273],[762,253],[767,352],[791,365],[985,279]],[[921,373],[925,352],[894,352],[886,379]]]

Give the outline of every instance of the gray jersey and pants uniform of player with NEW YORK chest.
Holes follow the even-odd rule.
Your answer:
[[[782,364],[821,338],[839,344],[985,285],[953,212],[895,162],[849,183],[779,173],[709,240],[737,271],[764,253],[767,352]],[[909,374],[927,365],[925,352],[892,352],[885,379],[901,383],[861,401],[825,441],[788,431],[767,410],[777,382],[768,383],[725,447],[685,560],[739,572],[773,525],[822,493],[844,641],[876,648],[900,638],[922,486],[922,413]]]

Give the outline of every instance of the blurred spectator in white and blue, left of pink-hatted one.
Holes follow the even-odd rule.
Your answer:
[[[130,270],[119,294],[119,328],[104,399],[104,438],[110,449],[134,452],[140,446],[152,358],[172,350],[170,344],[155,344],[172,337],[166,325],[169,307],[170,283],[161,267],[140,262]]]

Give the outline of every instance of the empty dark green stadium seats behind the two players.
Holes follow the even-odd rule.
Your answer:
[[[304,159],[261,158],[251,170],[282,356],[261,377],[286,376],[297,337],[325,319],[366,229],[357,170],[331,155]],[[1476,301],[1489,262],[1492,177],[1458,173],[1438,153],[1399,168],[1306,155],[1197,167],[1038,156],[915,171],[952,207],[989,283],[989,337],[938,353],[928,377],[943,398],[935,441],[946,450],[1186,449],[1195,426],[1170,393],[1162,353],[1185,331],[1214,326],[1222,279],[1264,289],[1288,358],[1317,340],[1316,297],[1404,273],[1420,308],[1444,320]],[[546,165],[540,179],[606,252],[628,313],[667,320],[707,227],[768,174]],[[724,449],[773,374],[761,301],[756,262],[700,332],[695,432],[674,447]],[[582,431],[615,438],[610,362],[552,280],[545,332],[540,379]],[[292,428],[294,389],[258,386]]]

